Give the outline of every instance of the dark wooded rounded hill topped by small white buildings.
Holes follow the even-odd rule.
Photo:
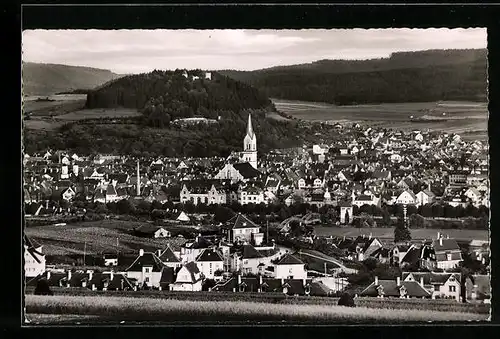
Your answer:
[[[87,95],[88,108],[127,107],[141,110],[152,125],[203,116],[216,119],[228,112],[272,109],[269,98],[256,88],[201,70],[158,71],[129,75],[112,81]]]

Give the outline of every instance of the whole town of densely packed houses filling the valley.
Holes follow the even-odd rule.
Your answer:
[[[203,123],[192,120],[185,123]],[[450,237],[488,230],[487,144],[359,124],[335,131],[335,144],[259,154],[249,115],[243,150],[227,158],[26,154],[26,288],[44,280],[130,293],[350,291],[489,303],[488,240]],[[131,215],[142,224],[127,230],[134,238],[163,246],[84,249],[68,266],[44,253],[53,243],[30,235]],[[335,233],[343,229],[358,233]],[[380,229],[391,236],[377,236]]]

